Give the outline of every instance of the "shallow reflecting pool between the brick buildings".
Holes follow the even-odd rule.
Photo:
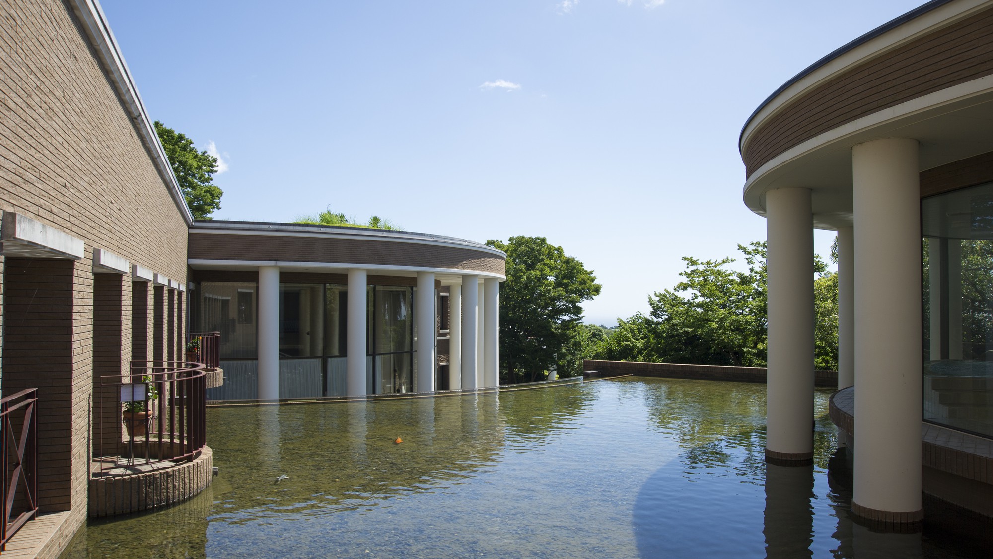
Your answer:
[[[211,408],[213,485],[90,522],[64,556],[984,556],[991,542],[958,521],[885,534],[849,519],[829,395],[806,467],[766,465],[760,384]]]

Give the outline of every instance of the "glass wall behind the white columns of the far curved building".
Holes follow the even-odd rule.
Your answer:
[[[213,400],[257,397],[257,283],[205,281],[194,285],[191,326],[219,331],[224,386]],[[413,288],[369,285],[367,391],[410,392],[414,387]],[[280,283],[280,398],[345,396],[348,286]]]

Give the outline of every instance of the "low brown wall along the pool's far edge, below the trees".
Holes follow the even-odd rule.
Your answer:
[[[583,361],[583,370],[596,370],[601,376],[635,375],[698,380],[766,382],[765,367],[730,367],[724,365],[688,365],[684,363],[644,363],[638,361]],[[814,386],[838,386],[837,371],[814,371]]]

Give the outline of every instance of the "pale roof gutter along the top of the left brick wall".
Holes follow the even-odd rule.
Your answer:
[[[152,119],[148,117],[144,103],[141,102],[141,96],[138,94],[138,89],[134,85],[131,73],[124,62],[124,56],[117,47],[117,41],[114,40],[114,34],[110,31],[110,26],[107,24],[107,19],[103,15],[99,2],[97,0],[70,0],[70,4],[72,11],[75,12],[82,24],[81,27],[85,31],[90,45],[96,51],[96,57],[103,66],[104,73],[110,79],[114,90],[117,91],[117,95],[127,110],[128,117],[131,118],[131,123],[145,144],[145,148],[148,149],[149,155],[152,156],[159,174],[166,182],[173,202],[183,215],[183,219],[186,220],[187,226],[193,225],[193,214],[187,206],[183,190],[180,189],[180,183],[176,180],[176,175],[173,174],[173,168],[169,164],[166,151],[162,148],[159,135],[152,126]]]

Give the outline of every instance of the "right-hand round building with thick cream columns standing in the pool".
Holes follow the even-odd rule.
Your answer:
[[[993,2],[936,0],[814,63],[741,133],[744,201],[768,225],[767,457],[812,456],[812,229],[835,230],[842,443],[870,520],[918,522],[922,488],[993,482],[945,491],[922,457],[931,427],[993,438],[991,121]]]

